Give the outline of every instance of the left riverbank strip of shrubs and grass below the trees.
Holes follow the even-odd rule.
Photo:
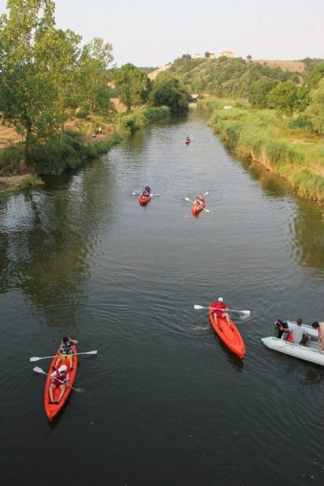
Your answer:
[[[92,138],[88,126],[67,123],[63,137],[47,143],[35,143],[29,148],[27,157],[22,143],[9,144],[0,150],[0,194],[42,184],[38,175],[59,175],[74,169],[88,160],[106,153],[134,131],[170,116],[170,109],[142,107],[131,113],[118,113],[111,123],[103,118],[95,120],[102,127],[102,134]]]

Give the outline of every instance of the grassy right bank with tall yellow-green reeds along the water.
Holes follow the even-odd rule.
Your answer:
[[[302,115],[278,118],[272,110],[256,110],[244,102],[203,100],[214,108],[210,125],[239,156],[249,157],[285,177],[307,199],[324,201],[323,138],[310,132]]]

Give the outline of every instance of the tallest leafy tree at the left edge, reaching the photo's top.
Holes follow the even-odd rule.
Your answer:
[[[39,72],[38,52],[54,29],[52,0],[8,0],[0,18],[0,108],[3,120],[25,139],[57,129],[51,79]]]

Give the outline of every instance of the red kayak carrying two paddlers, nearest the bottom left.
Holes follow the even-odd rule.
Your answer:
[[[73,353],[77,352],[75,344],[73,344],[73,346],[72,346],[72,351],[73,351]],[[48,371],[49,375],[51,375],[51,373],[53,373],[52,366],[55,366],[57,356],[59,356],[59,351],[57,351],[56,356],[52,359],[52,362],[51,362],[51,365],[50,365],[50,368],[49,368],[49,371]],[[68,371],[68,374],[69,374],[69,377],[70,377],[70,380],[69,380],[70,386],[73,386],[74,381],[75,381],[76,369],[77,369],[77,356],[75,356],[75,355],[73,356],[72,363],[73,363],[73,366],[72,366],[73,370]],[[68,360],[62,359],[60,361],[59,366],[61,366],[61,365],[66,365],[67,369],[69,369],[69,361]],[[62,410],[62,408],[64,407],[64,404],[65,404],[66,400],[68,399],[68,397],[71,393],[71,390],[72,390],[72,388],[67,386],[65,388],[64,394],[63,394],[60,402],[59,403],[50,403],[49,389],[50,389],[51,383],[52,383],[52,378],[50,378],[48,376],[47,379],[46,379],[46,383],[45,383],[44,407],[45,407],[46,415],[47,415],[50,422],[52,422],[54,417],[56,417],[56,415],[60,412],[60,410]],[[56,387],[53,391],[54,400],[59,396],[59,394],[60,394],[60,387]]]

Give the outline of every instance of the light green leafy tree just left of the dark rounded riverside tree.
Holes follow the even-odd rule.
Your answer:
[[[140,106],[148,99],[150,81],[146,74],[131,63],[124,64],[115,74],[115,87],[127,110]]]

